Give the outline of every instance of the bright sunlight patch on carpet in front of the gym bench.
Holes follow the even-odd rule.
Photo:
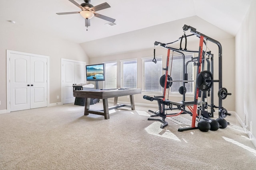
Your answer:
[[[175,141],[180,141],[180,139],[176,135],[174,135],[171,131],[161,129],[160,126],[161,126],[161,123],[156,121],[150,124],[148,127],[146,127],[145,130],[147,131],[148,134],[151,134],[151,135],[156,135],[156,136],[172,139]]]

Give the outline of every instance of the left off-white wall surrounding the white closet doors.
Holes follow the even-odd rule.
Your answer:
[[[61,102],[61,58],[85,61],[89,59],[77,43],[59,39],[47,33],[29,30],[24,25],[6,22],[0,27],[0,110],[6,110],[6,50],[50,57],[50,104]],[[60,96],[59,99],[56,96]]]

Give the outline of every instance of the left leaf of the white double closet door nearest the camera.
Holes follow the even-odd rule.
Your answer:
[[[30,109],[30,56],[10,55],[10,111]]]

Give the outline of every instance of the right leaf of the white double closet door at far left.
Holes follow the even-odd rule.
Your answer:
[[[30,108],[47,106],[47,59],[30,58]]]

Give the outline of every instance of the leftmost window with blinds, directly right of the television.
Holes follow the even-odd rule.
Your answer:
[[[103,88],[116,88],[116,61],[111,61],[105,64],[105,81]]]

